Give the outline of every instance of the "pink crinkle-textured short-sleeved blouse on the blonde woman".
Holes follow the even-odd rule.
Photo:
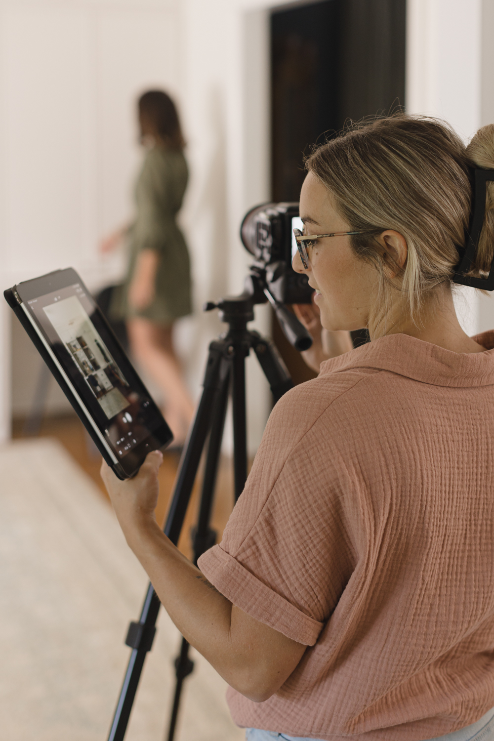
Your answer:
[[[207,579],[308,648],[238,725],[421,741],[494,705],[494,332],[404,334],[321,366],[273,409]]]

